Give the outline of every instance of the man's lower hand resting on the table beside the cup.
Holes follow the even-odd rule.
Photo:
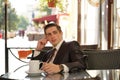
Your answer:
[[[52,63],[44,63],[41,69],[47,72],[48,74],[54,74],[61,71],[60,65]]]

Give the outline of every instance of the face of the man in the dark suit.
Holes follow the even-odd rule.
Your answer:
[[[55,26],[46,29],[46,38],[53,45],[56,46],[62,40],[62,32]]]

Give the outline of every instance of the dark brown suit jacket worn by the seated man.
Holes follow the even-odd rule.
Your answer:
[[[51,51],[41,52],[40,55],[34,57],[34,60],[42,60],[46,62]],[[77,41],[63,42],[59,48],[54,64],[65,64],[69,68],[69,72],[86,69],[85,55],[80,50],[80,45]]]

